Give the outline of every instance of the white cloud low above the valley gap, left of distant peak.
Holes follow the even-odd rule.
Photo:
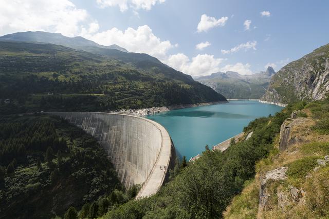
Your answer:
[[[178,53],[171,55],[166,64],[186,74],[199,76],[218,72],[222,61],[222,58],[215,58],[208,54],[198,54],[190,60],[185,54]]]

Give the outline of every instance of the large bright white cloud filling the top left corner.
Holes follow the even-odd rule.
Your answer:
[[[68,0],[1,0],[0,34],[43,30],[77,35],[82,28],[95,30],[96,23],[84,9]],[[95,23],[85,27],[86,23]]]

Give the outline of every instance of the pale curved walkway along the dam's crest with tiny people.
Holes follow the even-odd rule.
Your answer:
[[[142,119],[148,120],[146,118],[142,118]],[[165,180],[169,168],[170,158],[171,158],[172,144],[171,144],[171,138],[167,130],[163,128],[163,126],[159,125],[158,123],[152,120],[148,120],[148,121],[150,123],[153,123],[160,130],[162,135],[162,145],[161,145],[161,151],[159,153],[156,163],[154,164],[153,170],[151,171],[150,176],[145,181],[143,187],[141,188],[138,195],[136,196],[136,199],[155,194],[160,189],[160,187],[163,184],[163,181]]]

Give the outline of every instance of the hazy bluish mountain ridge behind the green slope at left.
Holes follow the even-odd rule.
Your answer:
[[[97,47],[128,52],[126,49],[115,44],[111,46],[102,46],[81,36],[67,37],[60,33],[48,33],[43,31],[12,33],[1,36],[0,41],[41,42],[62,45],[79,50],[87,50],[88,47]]]

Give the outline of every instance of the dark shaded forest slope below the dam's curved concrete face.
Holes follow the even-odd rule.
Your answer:
[[[0,118],[1,218],[50,218],[67,209],[64,218],[76,218],[76,209],[95,202],[103,206],[95,215],[106,212],[102,197],[117,198],[122,186],[105,154],[92,136],[58,117]]]

